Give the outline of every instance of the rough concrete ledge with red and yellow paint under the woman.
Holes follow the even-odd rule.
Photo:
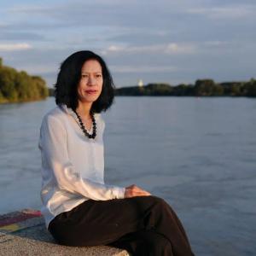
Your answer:
[[[60,246],[46,230],[41,212],[24,209],[0,215],[0,255],[129,256],[129,253],[107,246]]]

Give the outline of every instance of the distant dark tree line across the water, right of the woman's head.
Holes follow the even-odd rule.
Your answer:
[[[148,84],[115,90],[116,96],[248,96],[256,97],[256,80],[215,83],[212,79],[198,79],[195,84]]]

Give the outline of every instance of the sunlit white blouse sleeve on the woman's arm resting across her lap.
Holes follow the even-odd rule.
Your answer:
[[[39,148],[43,172],[53,172],[60,189],[98,201],[125,197],[125,188],[96,183],[76,172],[67,154],[67,131],[61,121],[53,116],[48,115],[43,119]]]

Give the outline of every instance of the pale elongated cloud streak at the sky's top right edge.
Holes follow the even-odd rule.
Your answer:
[[[239,4],[224,7],[210,7],[210,8],[197,8],[188,9],[188,14],[193,15],[206,15],[212,19],[237,19],[250,17],[254,15],[256,8],[254,5],[249,4]]]

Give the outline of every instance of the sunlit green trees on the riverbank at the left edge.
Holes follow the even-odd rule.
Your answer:
[[[3,59],[0,58],[0,103],[37,101],[48,95],[44,79],[3,66]]]

